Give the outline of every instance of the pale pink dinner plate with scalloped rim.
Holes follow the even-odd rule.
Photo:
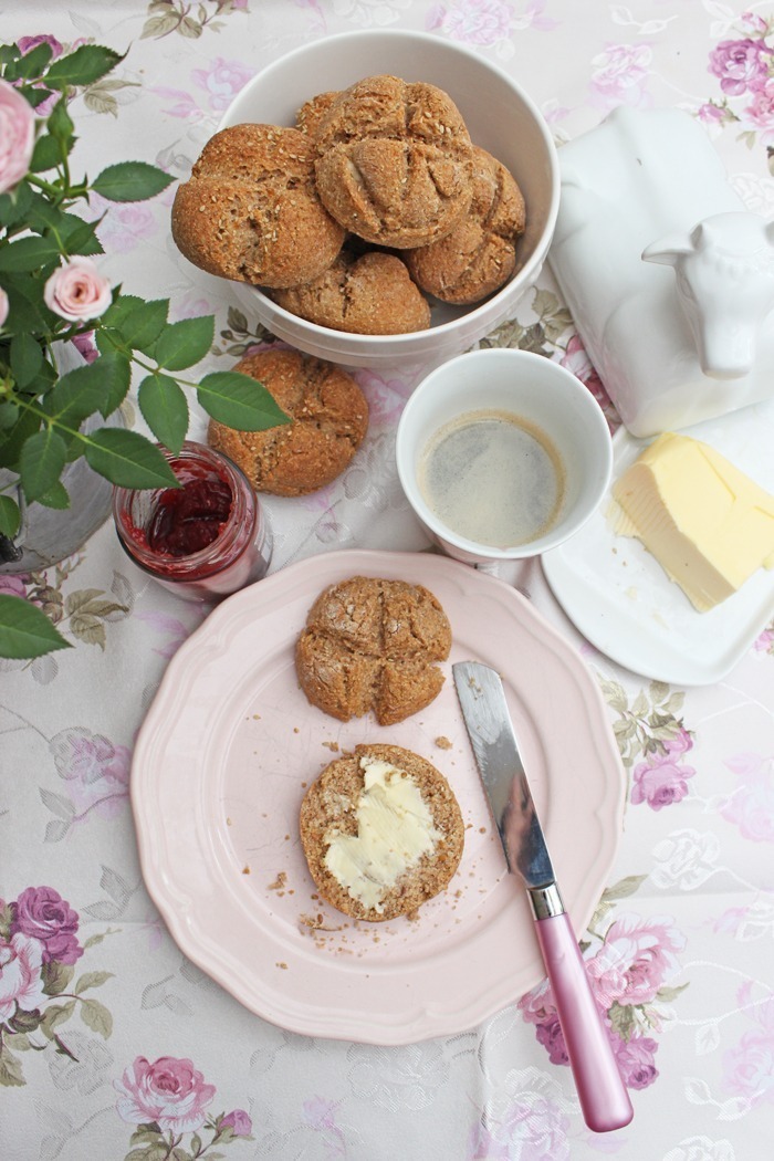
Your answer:
[[[296,679],[312,601],[359,575],[425,585],[451,622],[441,693],[392,727],[339,722]],[[504,582],[433,554],[335,551],[230,597],[169,663],[131,774],[145,882],[186,956],[259,1016],[309,1036],[411,1044],[473,1027],[543,978],[457,705],[450,666],[463,659],[502,675],[580,936],[615,858],[624,772],[593,676]],[[466,829],[444,894],[413,918],[370,924],[316,894],[298,809],[337,755],[375,741],[429,759]]]

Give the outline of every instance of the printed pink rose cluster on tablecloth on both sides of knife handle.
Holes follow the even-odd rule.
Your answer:
[[[677,953],[685,947],[685,937],[665,916],[623,914],[603,935],[594,930],[594,938],[600,946],[586,946],[584,961],[621,1076],[628,1088],[648,1088],[658,1077],[658,1041],[643,1036],[642,1029],[660,1029],[659,1004],[681,990],[670,988],[667,981],[679,969]],[[525,1022],[535,1026],[550,1062],[569,1063],[548,980],[522,996],[518,1008]]]

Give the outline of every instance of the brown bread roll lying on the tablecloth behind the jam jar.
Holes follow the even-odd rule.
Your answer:
[[[350,375],[287,349],[247,355],[234,370],[262,383],[291,418],[262,432],[210,420],[208,442],[243,469],[255,491],[304,496],[341,475],[368,430],[368,403]]]

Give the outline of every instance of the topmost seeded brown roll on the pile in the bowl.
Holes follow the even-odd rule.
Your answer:
[[[368,77],[333,102],[316,140],[324,205],[368,241],[426,246],[470,204],[470,135],[434,85]]]

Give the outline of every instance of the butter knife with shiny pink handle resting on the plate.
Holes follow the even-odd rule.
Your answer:
[[[479,662],[451,671],[508,870],[527,887],[584,1120],[596,1133],[622,1128],[634,1110],[556,884],[502,682]]]

